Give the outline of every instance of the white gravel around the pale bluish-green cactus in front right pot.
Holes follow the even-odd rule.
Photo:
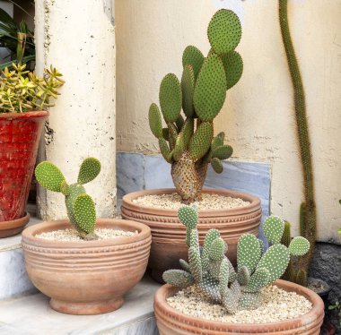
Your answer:
[[[312,305],[304,296],[295,292],[269,285],[262,290],[261,305],[257,309],[240,310],[228,314],[223,306],[210,301],[202,291],[193,285],[180,290],[176,296],[167,299],[168,304],[183,314],[216,322],[268,323],[294,319],[307,314]]]

